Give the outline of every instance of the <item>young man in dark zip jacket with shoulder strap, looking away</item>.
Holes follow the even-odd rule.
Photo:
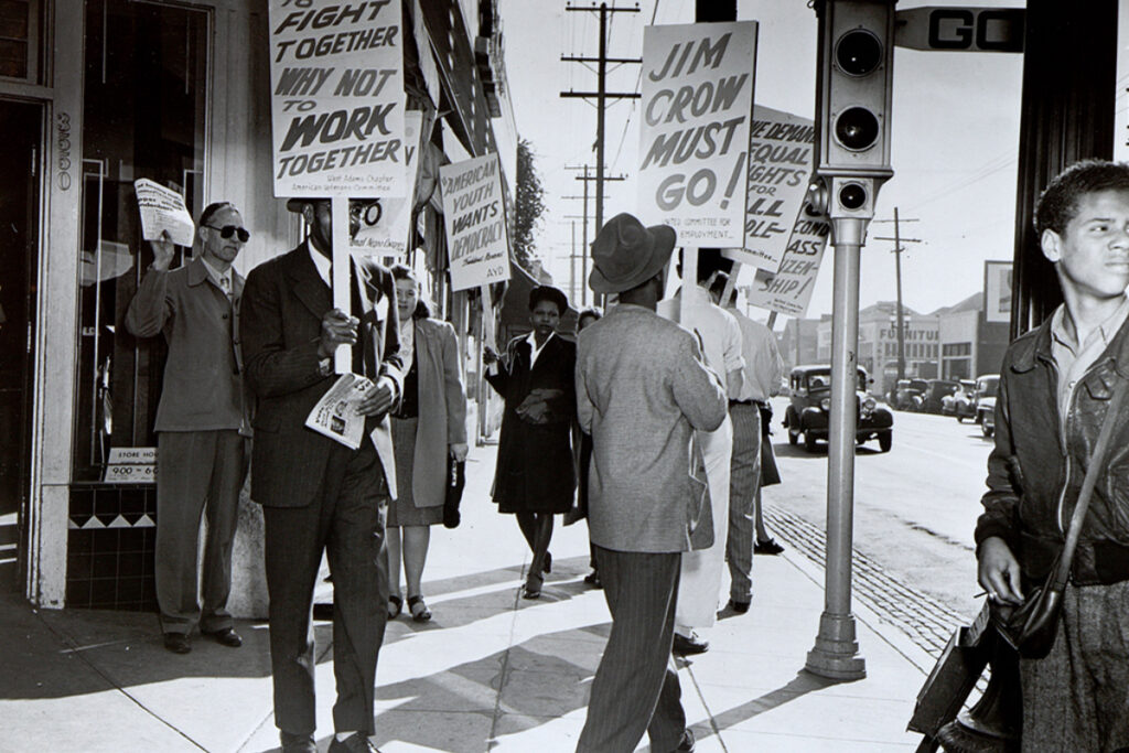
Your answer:
[[[1067,168],[1040,196],[1035,229],[1064,303],[1004,356],[975,529],[979,580],[990,599],[1014,605],[1045,580],[1097,435],[1113,420],[1053,647],[1045,658],[1021,658],[1019,673],[1024,751],[1126,750],[1129,424],[1106,413],[1129,386],[1129,165],[1086,160]]]

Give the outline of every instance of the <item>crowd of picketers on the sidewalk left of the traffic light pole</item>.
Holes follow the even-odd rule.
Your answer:
[[[305,220],[306,239],[243,279],[233,262],[250,231],[233,204],[209,205],[200,253],[170,270],[172,242],[154,242],[129,306],[131,333],[163,333],[168,344],[156,421],[160,625],[176,654],[192,650],[195,628],[242,645],[226,603],[251,463],[282,748],[316,750],[312,615],[324,554],[338,691],[330,750],[375,750],[386,622],[405,611],[431,619],[423,597],[430,527],[458,525],[449,487],[461,482],[467,454],[461,354],[454,329],[431,317],[405,265],[353,259],[350,310],[335,308],[329,201],[287,207]],[[484,378],[504,401],[492,497],[532,551],[522,596],[537,598],[552,569],[554,516],[587,518],[585,580],[604,589],[612,612],[584,751],[632,750],[644,732],[653,750],[693,750],[672,650],[707,650],[694,630],[716,619],[726,560],[728,606],[743,613],[754,550],[782,549],[759,510],[762,478],[779,481],[763,441],[782,370],[774,338],[736,310],[735,295],[721,305],[733,286],[716,268],[664,300],[674,248],[669,227],[613,218],[593,244],[589,279],[614,300],[607,313],[581,312],[574,338],[560,331],[566,295],[540,286],[528,299],[532,331],[502,354],[483,349]],[[341,345],[352,371],[374,383],[357,405],[367,435],[357,449],[306,427],[335,379]]]

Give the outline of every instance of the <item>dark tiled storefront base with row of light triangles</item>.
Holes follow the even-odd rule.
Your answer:
[[[67,535],[67,606],[157,608],[154,484],[75,484]]]

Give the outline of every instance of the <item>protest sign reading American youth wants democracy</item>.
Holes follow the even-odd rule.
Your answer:
[[[509,279],[509,237],[497,154],[439,168],[450,289]]]

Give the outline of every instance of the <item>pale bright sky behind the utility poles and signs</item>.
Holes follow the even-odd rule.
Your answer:
[[[634,8],[627,0],[609,7]],[[574,7],[592,1],[569,0]],[[596,3],[598,6],[598,2]],[[953,2],[930,2],[954,6]],[[978,6],[1021,2],[984,0]],[[899,9],[907,6],[899,5]],[[546,210],[536,235],[541,256],[555,282],[568,291],[575,225],[583,237],[583,183],[571,166],[595,165],[596,110],[560,91],[595,90],[595,64],[563,62],[561,55],[595,56],[598,14],[566,11],[566,0],[502,0],[510,100],[518,135],[527,139],[545,189]],[[639,12],[611,14],[609,56],[638,58],[642,29],[654,23],[693,21],[694,0],[640,0]],[[756,20],[756,104],[807,119],[815,111],[816,17],[806,0],[738,0],[738,20]],[[609,91],[638,91],[637,64],[616,67]],[[610,67],[611,70],[611,67]],[[902,297],[910,308],[930,313],[982,290],[983,262],[1010,260],[1015,235],[1015,192],[1019,131],[1022,55],[984,52],[920,52],[895,49],[892,112],[894,177],[879,191],[876,222],[863,249],[860,306],[896,295],[894,208],[903,220]],[[625,180],[605,184],[604,217],[638,207],[638,100],[622,99],[606,111],[606,174]],[[589,214],[594,211],[589,183]],[[588,242],[595,233],[594,222]],[[831,312],[832,255],[823,266],[807,316]],[[577,278],[580,277],[577,262]],[[751,274],[751,270],[746,273]],[[741,284],[749,281],[744,275]],[[756,317],[758,309],[753,314]],[[760,312],[763,318],[767,312]],[[781,326],[778,324],[778,326]]]

